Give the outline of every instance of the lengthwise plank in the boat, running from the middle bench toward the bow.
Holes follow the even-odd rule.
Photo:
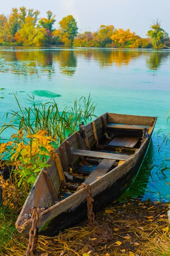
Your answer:
[[[98,177],[102,177],[103,175],[105,175],[115,162],[116,160],[103,159],[102,162],[99,163],[99,165],[87,177],[84,183],[91,184],[92,182],[97,180]]]

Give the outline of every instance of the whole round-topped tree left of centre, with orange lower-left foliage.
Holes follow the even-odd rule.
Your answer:
[[[59,21],[59,29],[57,32],[54,32],[54,36],[59,38],[65,45],[69,46],[76,37],[77,31],[78,27],[76,20],[72,15],[68,15]]]

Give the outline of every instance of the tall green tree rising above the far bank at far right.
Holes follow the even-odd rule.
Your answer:
[[[153,21],[151,29],[147,31],[147,36],[151,38],[153,48],[155,49],[163,48],[164,41],[168,38],[167,32],[165,32],[164,29],[161,28],[161,23],[158,19],[156,21]]]

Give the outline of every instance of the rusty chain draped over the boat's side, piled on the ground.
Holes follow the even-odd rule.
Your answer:
[[[94,230],[93,238],[94,240],[88,240],[88,244],[93,247],[96,244],[106,244],[107,241],[113,238],[113,230],[107,224],[99,224],[95,220],[95,214],[93,212],[93,202],[94,199],[91,196],[91,186],[82,183],[77,190],[85,187],[87,192],[87,207],[88,207],[88,223],[89,226]]]

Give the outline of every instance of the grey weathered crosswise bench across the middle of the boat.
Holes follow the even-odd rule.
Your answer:
[[[129,159],[129,156],[123,155],[123,154],[112,154],[112,153],[105,153],[105,152],[99,152],[99,151],[75,149],[75,148],[71,148],[71,153],[78,156],[98,157],[103,159],[106,158],[106,159],[123,160],[123,161],[126,161],[127,159]]]

